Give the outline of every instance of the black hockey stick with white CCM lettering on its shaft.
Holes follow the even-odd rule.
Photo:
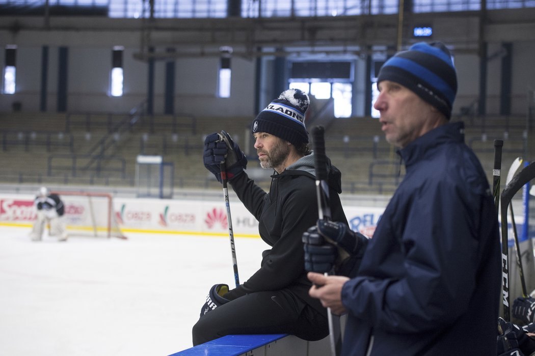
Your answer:
[[[524,184],[535,178],[535,162],[531,162],[511,179],[501,194],[501,235],[502,235],[502,281],[503,281],[503,319],[510,321],[509,314],[509,264],[507,238],[507,209],[511,199]]]

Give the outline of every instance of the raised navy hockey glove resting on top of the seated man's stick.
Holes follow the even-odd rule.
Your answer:
[[[221,162],[225,162],[228,180],[232,180],[247,168],[247,157],[232,137],[225,131],[213,133],[204,140],[204,167],[221,180]]]

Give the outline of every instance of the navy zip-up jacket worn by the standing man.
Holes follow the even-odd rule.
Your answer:
[[[498,215],[463,131],[448,123],[399,151],[406,176],[342,289],[343,355],[496,354]]]

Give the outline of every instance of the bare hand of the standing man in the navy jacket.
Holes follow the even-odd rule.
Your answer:
[[[342,304],[342,287],[349,281],[348,277],[325,276],[320,273],[309,272],[308,279],[312,282],[309,295],[317,298],[326,308],[331,308],[331,312],[336,315],[347,313],[347,309]]]

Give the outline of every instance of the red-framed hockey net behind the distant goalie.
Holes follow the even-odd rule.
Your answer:
[[[107,193],[52,191],[65,205],[63,221],[69,235],[118,237],[126,239],[113,208],[113,197]]]

